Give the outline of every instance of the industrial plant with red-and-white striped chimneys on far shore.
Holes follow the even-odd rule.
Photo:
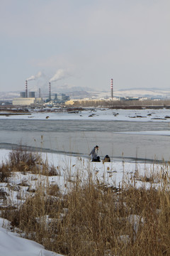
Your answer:
[[[58,107],[58,106],[66,106],[66,107],[148,107],[148,106],[170,106],[169,97],[170,93],[167,94],[166,97],[162,95],[148,95],[142,96],[142,93],[138,90],[137,95],[131,94],[131,97],[123,95],[123,93],[118,95],[118,91],[114,91],[113,96],[113,79],[111,78],[111,89],[110,92],[85,92],[82,94],[81,90],[67,92],[67,95],[64,93],[56,93],[51,90],[51,82],[47,83],[46,93],[39,90],[36,92],[28,90],[28,80],[25,82],[25,90],[18,94],[13,95],[13,97],[8,98],[6,100],[0,100],[0,105],[13,105],[15,107],[37,107],[37,106],[47,106],[47,107]],[[148,96],[148,97],[147,97]],[[169,96],[169,97],[168,97]],[[71,98],[70,98],[71,97]]]

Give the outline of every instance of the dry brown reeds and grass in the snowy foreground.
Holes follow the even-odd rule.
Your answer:
[[[1,164],[0,181],[7,182],[17,170],[57,175],[39,154],[24,149],[12,151],[6,164]],[[5,195],[0,191],[1,196]],[[149,189],[106,189],[90,175],[84,184],[77,176],[66,194],[56,184],[39,185],[18,208],[1,210],[1,217],[25,238],[63,255],[170,255],[168,174],[159,190],[154,184]]]

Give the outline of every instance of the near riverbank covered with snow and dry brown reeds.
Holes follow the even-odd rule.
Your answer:
[[[0,151],[0,163],[4,255],[10,248],[18,256],[23,245],[24,256],[55,255],[30,240],[62,255],[169,255],[169,165],[93,163],[22,148]],[[14,245],[5,246],[8,238]]]

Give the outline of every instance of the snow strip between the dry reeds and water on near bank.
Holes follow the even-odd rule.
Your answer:
[[[8,150],[0,150],[0,163],[6,162],[8,153]],[[135,185],[136,188],[140,186],[149,188],[152,183],[141,181],[139,177],[157,176],[164,169],[164,164],[132,163],[125,160],[103,164],[103,161],[91,162],[90,158],[52,153],[42,153],[42,159],[47,160],[49,165],[57,169],[57,175],[43,176],[17,171],[9,178],[8,185],[10,186],[6,186],[6,183],[0,183],[0,189],[8,195],[6,202],[11,206],[18,206],[18,204],[23,203],[24,198],[30,195],[28,191],[34,190],[38,183],[41,183],[42,186],[57,184],[62,193],[67,193],[77,176],[81,178],[82,183],[91,176],[94,181],[112,188],[119,188],[125,183],[132,183],[132,186]],[[156,182],[155,186],[159,186],[159,182]],[[1,200],[1,206],[4,206],[3,200]]]

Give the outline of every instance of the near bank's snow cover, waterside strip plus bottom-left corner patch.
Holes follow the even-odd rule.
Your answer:
[[[8,153],[8,150],[0,150],[0,164],[2,161],[6,162]],[[77,176],[81,183],[86,182],[90,176],[99,186],[111,187],[116,191],[126,185],[135,188],[158,188],[161,185],[162,170],[169,171],[169,166],[165,167],[164,164],[130,163],[123,160],[103,164],[102,161],[91,162],[91,159],[62,154],[42,153],[42,159],[47,159],[48,163],[57,169],[57,175],[43,176],[32,174],[30,171],[13,172],[8,183],[0,183],[0,191],[5,195],[4,199],[0,200],[1,208],[21,205],[28,196],[33,196],[33,189],[38,186],[42,186],[45,192],[47,187],[56,184],[61,193],[67,193]],[[54,252],[44,250],[42,245],[36,242],[18,238],[9,228],[8,221],[0,218],[0,256],[11,256],[11,252],[13,256],[57,256]]]

